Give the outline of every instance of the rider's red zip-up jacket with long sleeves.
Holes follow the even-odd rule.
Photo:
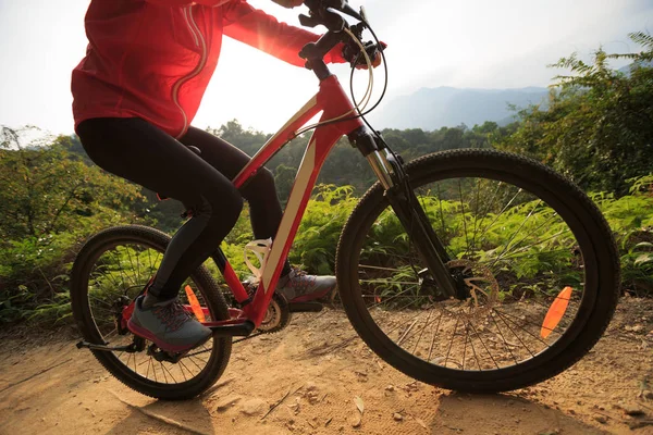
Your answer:
[[[141,117],[174,137],[193,121],[213,74],[222,35],[294,65],[318,39],[245,0],[93,0],[89,45],[73,71],[75,128],[91,117]],[[328,62],[344,62],[335,50]]]

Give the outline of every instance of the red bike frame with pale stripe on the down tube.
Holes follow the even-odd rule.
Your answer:
[[[352,100],[334,75],[321,80],[318,94],[278,134],[268,140],[247,166],[234,178],[234,186],[236,188],[243,187],[279,150],[297,137],[297,132],[320,112],[322,112],[320,122],[347,117],[356,113]],[[360,119],[350,119],[316,128],[304,153],[276,237],[266,260],[262,276],[252,300],[250,300],[233,268],[226,262],[223,270],[224,279],[236,301],[244,304],[244,307],[243,310],[231,309],[231,320],[206,322],[206,326],[237,324],[247,320],[254,322],[257,327],[261,324],[274,294],[274,287],[281,275],[283,263],[306,211],[316,179],[326,157],[341,137],[362,126]],[[249,302],[244,303],[246,301]]]

